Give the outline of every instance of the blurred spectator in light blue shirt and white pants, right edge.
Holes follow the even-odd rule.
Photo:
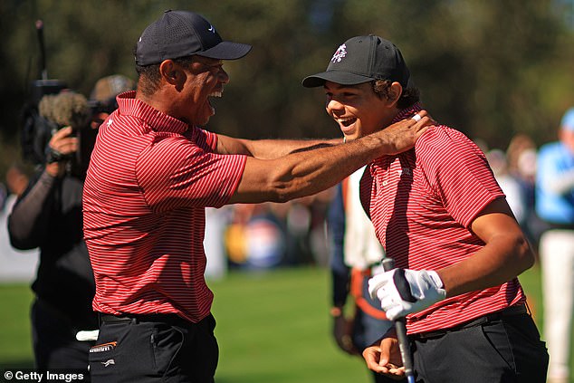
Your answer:
[[[566,383],[574,309],[574,108],[560,122],[559,140],[539,151],[536,213],[547,225],[541,235],[540,258],[548,378]]]

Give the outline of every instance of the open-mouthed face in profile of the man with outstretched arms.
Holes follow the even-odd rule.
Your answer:
[[[188,124],[203,126],[215,114],[209,101],[211,97],[221,97],[229,76],[221,60],[193,56],[187,66],[179,66],[181,78],[175,83],[177,97],[173,108],[179,120]]]

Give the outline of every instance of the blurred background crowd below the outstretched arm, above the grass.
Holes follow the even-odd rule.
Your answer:
[[[326,267],[325,219],[334,190],[284,204],[224,206],[206,210],[207,277],[225,271]]]

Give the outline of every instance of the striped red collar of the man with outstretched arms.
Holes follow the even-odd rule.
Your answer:
[[[153,130],[183,133],[189,129],[189,125],[182,120],[163,113],[144,101],[136,99],[136,91],[126,91],[118,98],[118,110],[121,115],[131,116],[144,120]]]

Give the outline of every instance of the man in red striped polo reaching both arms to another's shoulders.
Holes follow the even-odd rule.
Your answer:
[[[100,312],[90,351],[95,382],[213,381],[206,207],[315,194],[374,158],[412,148],[430,122],[400,121],[346,145],[199,128],[215,114],[209,99],[229,81],[223,61],[250,49],[184,11],[167,11],[139,37],[137,91],[120,94],[101,125],[83,194]],[[301,150],[310,146],[322,148]]]

